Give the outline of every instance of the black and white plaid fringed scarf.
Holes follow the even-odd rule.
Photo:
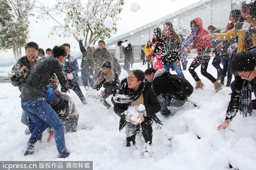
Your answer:
[[[256,78],[251,81],[245,80],[240,94],[239,110],[244,117],[252,116],[252,92],[256,94]]]

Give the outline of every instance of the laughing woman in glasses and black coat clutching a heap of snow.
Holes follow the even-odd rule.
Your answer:
[[[152,145],[152,119],[159,124],[161,121],[156,117],[161,106],[156,94],[152,89],[152,83],[145,79],[145,74],[141,70],[132,70],[126,79],[121,82],[121,87],[112,100],[115,113],[121,117],[119,130],[126,129],[126,146],[135,145],[135,136],[142,131],[145,143]],[[137,111],[136,121],[133,115],[125,114],[130,106],[143,104],[145,110]]]

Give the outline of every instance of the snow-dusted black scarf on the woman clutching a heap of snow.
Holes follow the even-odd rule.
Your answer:
[[[136,92],[133,92],[132,89],[128,88],[127,81],[125,81],[120,87],[120,89],[117,91],[114,97],[114,101],[116,103],[131,103],[139,99],[140,95],[143,93],[145,89],[145,85],[145,81],[143,81],[140,84],[138,90]]]

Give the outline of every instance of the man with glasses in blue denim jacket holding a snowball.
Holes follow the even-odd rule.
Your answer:
[[[72,89],[79,99],[87,104],[84,94],[80,89],[78,84],[78,63],[75,56],[70,55],[70,45],[65,43],[62,45],[66,49],[67,57],[65,61],[62,63],[63,71],[68,79],[69,89]],[[67,92],[64,88],[61,87],[61,92]]]

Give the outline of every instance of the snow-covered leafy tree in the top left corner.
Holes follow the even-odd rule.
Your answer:
[[[28,16],[35,7],[35,0],[0,1],[0,50],[13,49],[15,60],[21,57],[21,48],[28,40]]]

